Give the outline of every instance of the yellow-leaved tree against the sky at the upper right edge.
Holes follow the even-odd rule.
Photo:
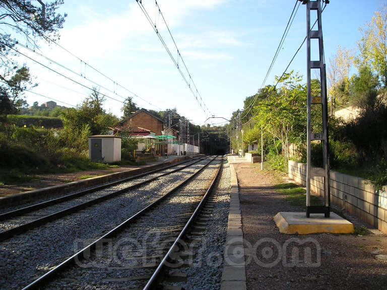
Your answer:
[[[360,28],[362,38],[358,41],[360,55],[358,67],[369,65],[387,87],[387,5],[375,12],[366,27]]]

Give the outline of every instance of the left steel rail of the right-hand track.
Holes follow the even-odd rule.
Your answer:
[[[146,207],[144,207],[143,209],[141,209],[140,211],[138,211],[137,213],[132,215],[130,218],[128,218],[126,221],[122,222],[120,225],[118,225],[114,229],[110,230],[108,233],[106,233],[102,237],[98,238],[93,243],[89,244],[88,246],[86,246],[82,250],[78,251],[77,253],[75,253],[73,256],[71,256],[67,260],[61,262],[55,268],[51,269],[50,271],[48,271],[47,273],[45,273],[44,275],[42,275],[41,277],[39,277],[38,279],[33,281],[32,283],[28,284],[22,290],[37,289],[38,287],[42,286],[45,282],[48,282],[51,278],[53,278],[55,275],[57,275],[61,270],[67,268],[68,266],[72,265],[73,263],[75,263],[77,261],[81,261],[83,259],[83,257],[84,257],[84,254],[87,254],[87,256],[89,256],[91,254],[91,252],[93,250],[95,250],[96,245],[98,245],[99,242],[103,242],[105,239],[110,238],[110,237],[112,237],[114,235],[117,235],[119,232],[124,230],[124,228],[126,228],[127,226],[132,224],[134,221],[136,221],[141,215],[143,215],[144,213],[148,212],[150,209],[155,207],[157,204],[159,204],[162,200],[164,200],[170,194],[172,194],[173,192],[175,192],[176,190],[181,188],[183,185],[188,183],[193,177],[197,176],[200,172],[202,172],[215,159],[216,159],[216,157],[211,159],[205,166],[203,166],[197,172],[193,173],[187,179],[185,179],[184,181],[179,183],[177,186],[175,186],[173,189],[168,191],[166,194],[164,194],[163,196],[159,197],[154,202],[152,202],[151,204],[147,205]]]

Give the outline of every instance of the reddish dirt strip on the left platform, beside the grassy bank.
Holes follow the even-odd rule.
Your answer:
[[[71,173],[59,173],[59,174],[36,174],[34,179],[21,182],[19,184],[12,185],[0,185],[0,197],[7,196],[19,192],[25,192],[38,188],[50,187],[58,184],[69,183],[72,181],[79,181],[85,179],[85,177],[96,177],[114,172],[120,172],[130,169],[136,169],[142,166],[122,166],[119,168],[101,169],[101,170],[88,170]]]

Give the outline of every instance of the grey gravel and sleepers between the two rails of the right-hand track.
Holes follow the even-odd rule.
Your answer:
[[[177,238],[178,223],[189,219],[210,186],[220,161],[210,164],[197,177],[164,200],[137,223],[104,245],[103,250],[61,273],[45,289],[127,289],[145,285],[167,249]],[[167,223],[167,222],[170,223]],[[172,223],[171,223],[172,222]],[[180,229],[179,229],[180,228]]]

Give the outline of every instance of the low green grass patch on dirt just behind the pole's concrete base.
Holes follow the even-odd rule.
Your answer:
[[[286,195],[286,200],[296,206],[306,207],[306,190],[294,183],[280,183],[273,186],[279,193]],[[320,205],[317,196],[310,195],[310,205]]]

